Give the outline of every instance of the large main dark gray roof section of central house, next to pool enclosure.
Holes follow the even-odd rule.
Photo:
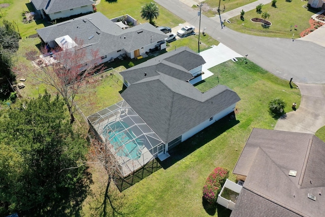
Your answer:
[[[130,85],[121,96],[165,143],[240,100],[226,86],[202,93],[188,82],[159,72]]]

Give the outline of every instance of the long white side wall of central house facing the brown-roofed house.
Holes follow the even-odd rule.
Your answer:
[[[202,122],[200,125],[192,128],[191,130],[184,133],[182,135],[182,142],[185,141],[186,139],[192,137],[194,134],[199,133],[200,131],[207,128],[208,126],[212,125],[212,123],[214,123],[215,121],[217,121],[217,120],[221,119],[222,117],[224,117],[224,116],[230,114],[231,112],[233,112],[235,110],[235,106],[236,106],[236,103],[233,104],[232,106],[224,109],[223,111],[219,112],[218,114],[215,114],[211,121],[210,121],[210,118],[209,118],[209,119],[205,120],[204,122]],[[200,114],[197,114],[197,115],[200,115]]]

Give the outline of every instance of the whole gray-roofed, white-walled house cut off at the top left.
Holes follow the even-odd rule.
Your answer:
[[[43,19],[48,16],[50,20],[92,13],[94,4],[91,0],[31,0],[31,3],[36,14]]]

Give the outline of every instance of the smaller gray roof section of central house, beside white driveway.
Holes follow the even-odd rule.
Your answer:
[[[188,47],[181,47],[176,50],[151,58],[142,64],[134,66],[120,73],[129,84],[138,82],[144,78],[154,77],[163,73],[182,81],[193,78],[189,70],[205,64],[202,56],[194,53]],[[146,77],[144,77],[146,73]]]

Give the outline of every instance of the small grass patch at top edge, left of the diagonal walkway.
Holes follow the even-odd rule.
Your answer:
[[[236,8],[242,7],[244,5],[250,4],[257,0],[222,0],[222,1],[215,1],[215,0],[205,0],[202,4],[202,14],[206,15],[207,17],[213,17],[218,13],[218,7],[220,2],[220,14],[229,12]],[[198,4],[199,5],[199,4]],[[192,6],[194,9],[200,10],[200,7],[194,5]]]

